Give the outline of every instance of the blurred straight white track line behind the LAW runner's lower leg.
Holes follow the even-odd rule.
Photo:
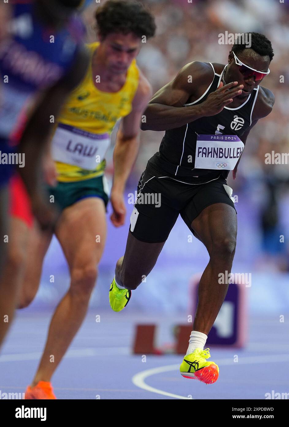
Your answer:
[[[103,348],[75,348],[69,350],[64,358],[73,357],[90,357],[90,356],[110,356],[111,354],[130,354],[128,347],[103,347]],[[18,362],[20,360],[38,360],[42,353],[19,353],[19,354],[2,354],[0,362]]]

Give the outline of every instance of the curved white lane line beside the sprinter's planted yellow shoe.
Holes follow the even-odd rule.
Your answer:
[[[249,357],[239,357],[239,362],[234,362],[232,358],[227,358],[223,360],[218,361],[219,366],[228,366],[228,365],[250,365],[252,363],[268,363],[268,360],[274,360],[274,363],[282,363],[289,361],[289,354],[279,354],[278,356],[274,355],[266,355],[266,356],[249,356]],[[133,375],[132,382],[135,386],[147,390],[148,392],[157,393],[159,395],[168,396],[171,398],[176,399],[194,399],[189,398],[187,396],[180,396],[175,395],[173,393],[168,393],[163,390],[156,389],[154,387],[149,386],[147,383],[145,383],[145,379],[148,377],[151,377],[152,375],[160,374],[162,372],[169,372],[169,371],[178,371],[179,370],[179,364],[178,365],[167,365],[167,366],[160,366],[158,368],[152,368],[152,369],[146,369],[145,371],[138,372],[137,374]]]

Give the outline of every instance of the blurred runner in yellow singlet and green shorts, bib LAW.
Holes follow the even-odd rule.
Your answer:
[[[121,119],[110,194],[111,220],[118,227],[124,224],[123,192],[138,152],[142,113],[151,97],[150,84],[135,58],[142,37],[154,35],[153,17],[140,3],[109,0],[97,9],[95,18],[100,41],[87,46],[87,74],[66,102],[52,138],[57,185],[49,187],[48,194],[61,209],[55,235],[68,262],[71,283],[52,317],[40,365],[26,390],[29,399],[55,398],[50,379],[87,312],[106,239],[108,196],[103,173],[110,134]],[[38,290],[52,238],[37,230],[33,234],[20,307],[26,307]]]

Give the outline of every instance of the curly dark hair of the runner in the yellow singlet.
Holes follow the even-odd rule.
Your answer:
[[[153,15],[134,0],[108,0],[96,10],[95,19],[103,37],[112,32],[132,32],[139,38],[143,35],[150,38],[156,31]]]

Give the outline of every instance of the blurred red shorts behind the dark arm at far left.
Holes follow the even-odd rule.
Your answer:
[[[15,174],[10,179],[9,193],[10,215],[21,219],[31,228],[34,218],[31,211],[30,199],[20,175]]]

